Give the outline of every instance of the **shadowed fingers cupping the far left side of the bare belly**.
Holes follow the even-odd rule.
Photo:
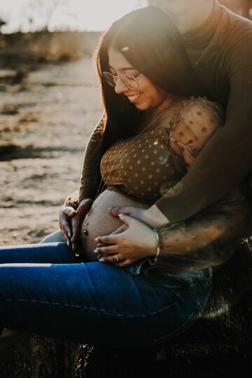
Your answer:
[[[80,228],[83,219],[92,206],[92,200],[85,198],[78,205],[78,209],[74,210],[72,207],[63,207],[59,212],[59,227],[62,232],[62,237],[68,246],[71,246],[74,253],[78,252],[78,242],[80,239]]]

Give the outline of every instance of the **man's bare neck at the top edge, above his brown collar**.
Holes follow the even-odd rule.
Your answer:
[[[185,5],[186,3],[186,5]],[[174,9],[170,15],[181,34],[188,33],[200,27],[211,14],[214,8],[214,0],[183,1],[183,5]]]

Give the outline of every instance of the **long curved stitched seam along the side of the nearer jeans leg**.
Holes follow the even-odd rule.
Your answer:
[[[116,315],[116,316],[119,316],[119,317],[121,316],[121,317],[129,317],[129,318],[135,316],[135,317],[144,318],[146,316],[160,314],[161,312],[167,311],[167,309],[170,309],[171,307],[175,306],[182,299],[182,297],[185,295],[187,288],[188,288],[188,285],[183,287],[183,290],[181,290],[180,295],[176,298],[176,300],[173,303],[169,304],[168,306],[162,307],[161,309],[158,309],[156,311],[148,312],[146,314],[118,314],[116,312],[108,312],[104,309],[94,309],[93,307],[83,307],[83,306],[79,306],[77,304],[62,304],[62,303],[57,303],[57,302],[45,302],[45,301],[38,301],[38,300],[22,300],[22,299],[0,300],[0,303],[28,302],[28,303],[48,304],[48,305],[52,305],[52,306],[57,305],[57,306],[62,306],[62,307],[73,307],[73,308],[78,307],[79,309],[83,309],[83,310],[86,310],[86,311],[93,311],[95,313],[101,313],[101,314],[105,314],[105,315]]]

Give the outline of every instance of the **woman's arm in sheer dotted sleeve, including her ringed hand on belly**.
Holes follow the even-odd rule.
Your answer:
[[[248,217],[248,208],[240,200],[216,204],[186,223],[160,229],[160,255],[155,261],[157,241],[154,231],[137,218],[120,216],[126,229],[97,237],[94,253],[118,267],[148,258],[150,266],[165,272],[193,272],[221,265],[235,250],[237,238]],[[118,231],[119,232],[119,231]],[[117,262],[115,255],[122,260]]]

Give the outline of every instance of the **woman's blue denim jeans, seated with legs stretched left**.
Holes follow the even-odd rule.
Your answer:
[[[147,275],[148,274],[148,275]],[[111,348],[153,346],[202,315],[211,269],[83,262],[65,243],[0,247],[0,328]]]

